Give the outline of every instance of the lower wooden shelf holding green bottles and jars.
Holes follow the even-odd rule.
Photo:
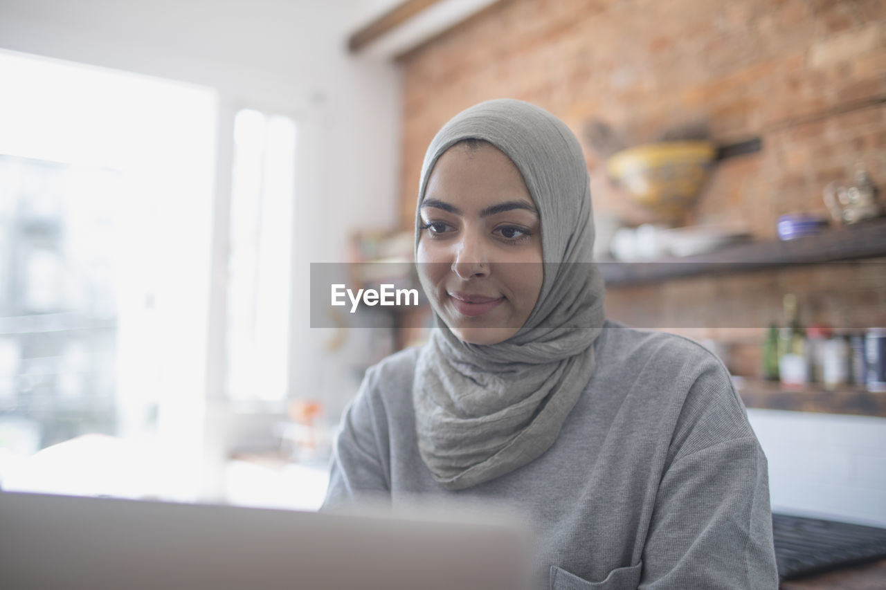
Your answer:
[[[794,391],[784,389],[778,382],[742,378],[737,389],[747,408],[886,417],[886,393],[867,392],[857,385],[842,385],[829,391],[820,384],[808,384]]]

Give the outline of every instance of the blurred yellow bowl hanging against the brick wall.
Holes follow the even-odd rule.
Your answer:
[[[677,224],[698,198],[716,155],[711,142],[661,142],[619,151],[606,166],[634,200]]]

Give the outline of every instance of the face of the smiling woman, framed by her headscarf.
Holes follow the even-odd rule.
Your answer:
[[[416,260],[424,292],[456,337],[507,340],[539,299],[538,210],[523,176],[492,144],[455,144],[437,160],[421,206]]]

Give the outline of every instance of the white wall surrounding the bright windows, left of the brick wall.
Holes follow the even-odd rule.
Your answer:
[[[358,228],[397,221],[400,74],[378,58],[353,57],[347,35],[395,0],[0,0],[0,49],[149,74],[217,89],[220,130],[237,108],[292,116],[299,124],[292,395],[328,400],[333,418],[355,392],[350,361],[321,352],[328,334],[307,314],[310,262],[344,261]],[[2,87],[2,81],[0,81]],[[220,143],[222,164],[229,142]],[[221,167],[223,170],[223,166]],[[229,182],[217,178],[223,193]],[[215,228],[227,224],[216,212]],[[217,258],[224,245],[214,245]],[[223,265],[212,289],[223,291]],[[207,293],[208,299],[208,293]],[[210,310],[208,423],[227,423],[219,401],[223,356]],[[215,330],[215,331],[214,331]],[[216,344],[214,344],[216,343]],[[214,348],[215,346],[215,348]],[[225,433],[208,436],[215,446]],[[220,460],[216,454],[215,460]]]

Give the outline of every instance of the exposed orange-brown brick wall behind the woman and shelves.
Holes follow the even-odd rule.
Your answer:
[[[775,221],[783,213],[827,214],[822,189],[831,180],[849,180],[856,162],[886,188],[882,0],[508,0],[400,61],[405,72],[403,227],[414,219],[431,138],[455,113],[494,97],[540,105],[575,131],[585,147],[598,219],[650,221],[607,180],[602,155],[585,133],[591,120],[605,122],[627,144],[654,141],[669,128],[698,121],[719,144],[760,137],[762,151],[716,167],[688,219],[741,220],[760,239],[775,237]],[[801,304],[819,300],[833,287],[828,271],[810,272],[810,281],[791,283]],[[843,272],[848,273],[843,284],[863,282],[861,269]],[[751,314],[780,319],[776,282],[772,273],[733,281],[766,309]],[[710,278],[681,283],[622,289],[608,297],[641,305],[686,291],[687,285],[689,291],[710,293],[725,284]],[[882,283],[879,289],[873,299],[868,293],[806,306],[820,311],[804,319],[864,328],[872,317],[867,308],[886,320]],[[693,303],[695,309],[698,305],[703,314],[717,314],[716,299]],[[618,316],[618,305],[611,309]],[[685,310],[673,307],[667,313],[676,317]],[[758,331],[693,333],[756,342],[764,330],[741,323],[741,317],[729,322]]]

